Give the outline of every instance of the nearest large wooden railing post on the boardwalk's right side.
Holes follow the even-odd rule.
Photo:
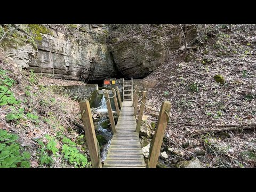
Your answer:
[[[153,136],[150,149],[149,149],[148,163],[146,166],[147,168],[156,167],[158,156],[159,156],[163,138],[164,138],[164,131],[169,120],[169,117],[167,116],[167,114],[169,114],[170,109],[171,109],[170,101],[162,102],[161,110],[160,110],[158,121],[156,124],[155,134]]]

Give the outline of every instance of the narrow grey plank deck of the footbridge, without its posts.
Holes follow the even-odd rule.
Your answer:
[[[103,168],[145,168],[132,99],[122,102],[116,132],[111,139]]]

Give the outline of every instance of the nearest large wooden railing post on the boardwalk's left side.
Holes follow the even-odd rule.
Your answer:
[[[98,153],[100,149],[98,149],[98,144],[97,144],[98,141],[95,135],[94,125],[92,121],[90,103],[88,100],[83,100],[79,102],[79,106],[82,114],[81,118],[84,124],[84,133],[88,143],[92,167],[102,168],[100,154]]]

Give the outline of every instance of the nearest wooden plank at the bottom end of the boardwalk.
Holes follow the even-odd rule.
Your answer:
[[[111,159],[105,160],[105,166],[145,166],[144,160],[118,160],[118,159]]]

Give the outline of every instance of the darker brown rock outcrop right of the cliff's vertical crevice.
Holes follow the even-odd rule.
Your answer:
[[[186,36],[189,42],[196,37],[195,28]],[[143,78],[160,66],[167,55],[180,48],[184,37],[179,26],[154,27],[150,35],[137,34],[119,40],[114,38],[110,47],[117,69],[128,78]]]

